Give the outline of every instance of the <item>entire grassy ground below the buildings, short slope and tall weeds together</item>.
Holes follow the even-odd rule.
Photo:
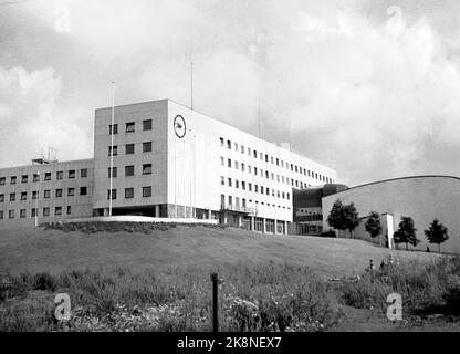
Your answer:
[[[211,271],[223,280],[226,331],[460,331],[458,315],[427,312],[452,296],[458,305],[460,259],[215,226],[94,228],[0,231],[0,332],[210,331]],[[369,259],[378,268],[390,253],[400,266],[370,279]],[[328,281],[353,274],[362,278]],[[395,291],[409,311],[398,323],[386,317]],[[53,316],[62,292],[69,323]]]

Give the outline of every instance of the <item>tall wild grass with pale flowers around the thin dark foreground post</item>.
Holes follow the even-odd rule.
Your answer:
[[[309,269],[289,264],[236,264],[216,269],[220,327],[223,331],[322,331],[339,316],[328,284]],[[175,268],[137,272],[128,268],[75,270],[59,275],[4,273],[20,284],[3,296],[3,331],[211,331],[209,270]],[[42,292],[46,305],[24,303]],[[53,294],[65,292],[72,317],[56,323],[50,316]],[[33,313],[33,315],[32,315]],[[28,319],[39,319],[38,320]]]

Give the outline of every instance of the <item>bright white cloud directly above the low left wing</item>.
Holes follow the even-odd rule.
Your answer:
[[[0,166],[27,165],[48,147],[58,158],[92,156],[92,143],[76,117],[56,115],[62,80],[52,69],[28,72],[0,66]]]

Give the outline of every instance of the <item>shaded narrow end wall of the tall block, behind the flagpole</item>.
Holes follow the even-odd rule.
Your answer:
[[[167,110],[166,100],[116,106],[114,123],[118,124],[118,134],[114,134],[114,146],[118,147],[114,156],[117,177],[113,178],[113,189],[117,189],[117,199],[113,208],[167,204]],[[143,131],[143,121],[153,119],[153,129]],[[111,135],[108,126],[112,121],[112,108],[95,112],[94,119],[94,208],[108,208],[107,190],[109,189],[108,168],[111,157]],[[135,122],[135,132],[125,133],[125,124]],[[143,153],[143,143],[153,142],[153,150]],[[135,154],[126,155],[125,145],[135,144]],[[143,164],[153,164],[153,174],[143,175]],[[125,166],[134,165],[135,175],[125,177]],[[143,197],[142,187],[151,186],[151,197]],[[134,188],[134,198],[125,199],[125,188]]]

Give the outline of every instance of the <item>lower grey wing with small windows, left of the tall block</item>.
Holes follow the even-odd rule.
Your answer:
[[[93,214],[93,159],[0,168],[0,228]]]

